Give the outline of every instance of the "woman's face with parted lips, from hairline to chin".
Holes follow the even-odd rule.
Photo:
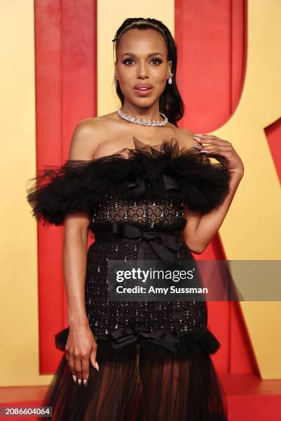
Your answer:
[[[121,36],[116,58],[115,74],[125,101],[137,107],[158,101],[170,74],[163,36],[156,30],[129,30]]]

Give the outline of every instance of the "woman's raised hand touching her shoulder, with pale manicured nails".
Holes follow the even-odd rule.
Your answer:
[[[197,140],[197,142],[209,144],[209,146],[202,147],[200,153],[214,155],[219,162],[229,169],[231,174],[238,174],[242,177],[244,174],[244,166],[231,142],[220,139],[217,136],[198,133],[194,134],[194,139]]]

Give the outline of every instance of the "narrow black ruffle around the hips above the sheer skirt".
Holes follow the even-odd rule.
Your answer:
[[[68,334],[69,327],[66,327],[55,334],[56,348],[63,352],[65,351]],[[171,352],[168,349],[165,349],[165,347],[155,345],[143,336],[139,336],[137,341],[117,349],[112,348],[110,336],[103,336],[103,338],[98,337],[96,338],[96,343],[98,344],[96,360],[98,362],[132,360],[136,356],[136,347],[138,345],[140,346],[142,356],[147,358],[149,358],[149,356],[152,358],[157,357],[157,359],[160,360],[182,360],[194,353],[198,353],[198,350],[207,354],[215,354],[220,348],[218,339],[207,329],[207,327],[202,327],[200,330],[194,330],[187,334],[180,334],[179,338],[178,352]]]

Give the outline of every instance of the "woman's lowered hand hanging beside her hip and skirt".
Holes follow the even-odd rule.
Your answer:
[[[98,371],[96,362],[96,350],[98,345],[90,329],[90,326],[71,327],[65,344],[65,358],[72,373],[74,382],[87,386],[89,378],[89,359]]]

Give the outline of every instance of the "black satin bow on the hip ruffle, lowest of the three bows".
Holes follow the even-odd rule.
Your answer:
[[[178,351],[180,341],[178,332],[163,329],[156,329],[153,332],[150,332],[147,329],[140,329],[138,327],[123,327],[111,332],[110,343],[112,348],[117,349],[124,347],[129,343],[136,342],[138,336],[143,336],[144,338],[147,338],[149,342],[154,343],[154,345],[159,345],[171,352]]]

